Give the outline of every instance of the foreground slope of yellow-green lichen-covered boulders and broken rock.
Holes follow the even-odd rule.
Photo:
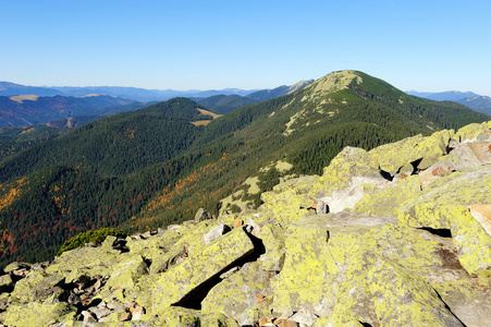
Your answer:
[[[491,121],[0,277],[5,326],[490,326]]]

